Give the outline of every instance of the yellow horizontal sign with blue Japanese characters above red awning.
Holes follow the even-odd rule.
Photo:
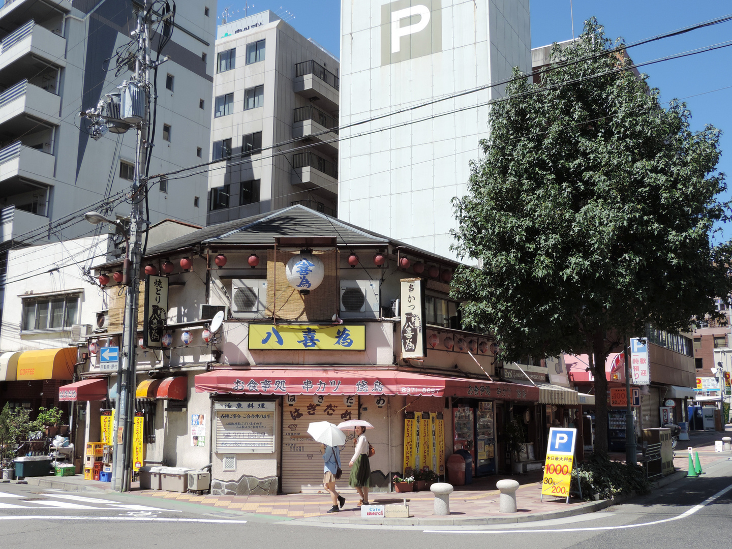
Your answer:
[[[250,324],[250,349],[364,351],[365,326],[305,326],[302,324]]]

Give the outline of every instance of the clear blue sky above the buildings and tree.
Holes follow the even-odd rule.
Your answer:
[[[243,0],[224,0],[219,3],[217,15],[220,18],[223,9],[230,7],[230,20],[243,17],[245,4],[247,2]],[[250,14],[272,10],[288,20],[305,37],[313,38],[338,56],[340,0],[255,0],[248,2],[248,5]],[[630,43],[727,15],[732,13],[732,4],[718,0],[573,0],[572,9],[575,35],[582,30],[583,21],[594,15],[605,26],[608,37],[623,37]],[[572,37],[572,18],[569,13],[569,0],[531,0],[531,46],[535,48],[569,40]],[[731,38],[732,22],[722,23],[680,37],[631,48],[628,53],[636,62],[650,61]],[[649,75],[651,86],[660,89],[662,102],[673,98],[687,102],[692,112],[694,130],[701,130],[704,124],[713,124],[724,132],[721,141],[722,160],[718,168],[732,178],[731,58],[732,47],[722,48],[641,67],[641,72]],[[731,193],[725,194],[725,198],[731,196]],[[722,236],[718,238],[732,238],[732,226],[723,228]]]

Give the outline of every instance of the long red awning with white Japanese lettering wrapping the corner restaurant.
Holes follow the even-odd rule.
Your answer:
[[[242,395],[413,395],[539,402],[539,388],[534,386],[397,370],[213,370],[195,376],[195,390]]]

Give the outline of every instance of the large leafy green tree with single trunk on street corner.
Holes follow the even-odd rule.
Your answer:
[[[646,323],[690,329],[732,289],[732,244],[714,243],[730,211],[720,131],[692,132],[684,103],[663,108],[594,19],[551,61],[490,109],[468,194],[453,200],[453,249],[482,269],[458,269],[452,291],[502,359],[590,356],[604,450],[610,351]]]

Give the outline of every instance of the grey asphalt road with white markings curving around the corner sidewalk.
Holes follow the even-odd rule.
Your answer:
[[[675,549],[732,547],[732,460],[604,512],[481,529],[304,526],[119,494],[0,485],[0,547]]]

